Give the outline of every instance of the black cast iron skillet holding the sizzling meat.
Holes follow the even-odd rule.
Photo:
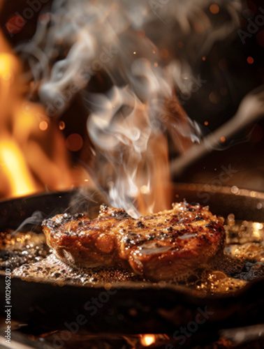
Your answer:
[[[264,193],[237,188],[177,184],[173,200],[210,205],[214,214],[264,222]],[[176,195],[176,198],[175,198]],[[102,195],[79,191],[44,193],[0,202],[0,229],[17,228],[38,210],[45,217],[64,211],[98,211]],[[78,204],[78,205],[77,205]],[[36,225],[36,222],[34,223]],[[30,228],[27,226],[26,228]],[[5,299],[5,278],[0,273],[0,299]],[[111,294],[103,285],[57,285],[54,281],[11,281],[12,319],[43,330],[78,329],[89,332],[167,333],[196,321],[204,314],[203,331],[252,325],[264,320],[264,279],[251,281],[232,295],[203,297],[180,286],[164,283],[115,283]],[[100,300],[94,305],[96,300]],[[3,302],[1,301],[1,304]],[[1,315],[5,317],[3,306]],[[200,316],[200,315],[198,315]]]

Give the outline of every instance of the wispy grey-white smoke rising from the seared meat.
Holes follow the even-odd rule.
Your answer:
[[[218,20],[207,0],[55,0],[31,42],[17,47],[31,95],[50,117],[82,97],[94,179],[133,216],[168,207],[168,138],[178,154],[200,141],[174,89],[190,88],[201,57],[239,26],[241,1],[214,2]]]

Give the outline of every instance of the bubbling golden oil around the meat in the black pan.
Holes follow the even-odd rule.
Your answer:
[[[184,279],[177,276],[164,284],[185,285],[205,294],[234,292],[249,281],[264,276],[263,223],[235,220],[228,215],[225,222],[226,247],[224,255],[208,265],[207,269],[190,271]],[[45,244],[45,236],[35,232],[1,233],[0,268],[9,267],[13,275],[22,279],[41,277],[59,285],[76,283],[94,285],[117,281],[144,281],[123,269],[69,267],[54,257]]]

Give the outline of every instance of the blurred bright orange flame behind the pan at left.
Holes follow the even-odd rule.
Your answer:
[[[20,62],[0,32],[0,198],[87,181],[83,170],[73,170],[59,126],[22,89]]]

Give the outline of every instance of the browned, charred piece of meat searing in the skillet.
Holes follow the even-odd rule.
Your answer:
[[[47,244],[64,262],[86,267],[124,267],[152,280],[173,279],[203,267],[223,250],[221,218],[186,202],[131,218],[101,206],[100,214],[59,214],[43,222]]]

